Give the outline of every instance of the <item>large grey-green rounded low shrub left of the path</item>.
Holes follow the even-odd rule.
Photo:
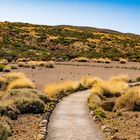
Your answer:
[[[7,91],[0,100],[0,115],[16,119],[20,113],[43,113],[50,98],[34,89]]]

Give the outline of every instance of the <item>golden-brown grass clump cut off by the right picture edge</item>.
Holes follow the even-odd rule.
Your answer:
[[[140,111],[140,86],[131,87],[116,101],[116,107],[129,111]]]

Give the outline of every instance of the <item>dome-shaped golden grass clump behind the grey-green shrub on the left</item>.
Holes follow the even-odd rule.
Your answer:
[[[8,90],[22,89],[22,88],[34,89],[35,86],[34,86],[34,84],[32,83],[31,80],[29,80],[27,78],[19,78],[19,79],[16,79],[16,80],[12,81],[7,87]]]

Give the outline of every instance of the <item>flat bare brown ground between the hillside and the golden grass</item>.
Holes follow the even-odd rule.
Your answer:
[[[39,67],[18,68],[15,72],[23,72],[33,80],[38,89],[43,89],[47,84],[60,83],[69,80],[80,80],[85,77],[99,77],[109,79],[111,76],[129,75],[135,79],[140,75],[140,63],[128,62],[120,64],[113,62],[111,64],[87,63],[87,62],[56,62],[54,69]]]

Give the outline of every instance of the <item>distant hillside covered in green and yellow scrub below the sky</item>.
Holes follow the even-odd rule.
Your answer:
[[[0,58],[70,60],[75,57],[120,57],[140,61],[140,36],[75,26],[0,22]]]

